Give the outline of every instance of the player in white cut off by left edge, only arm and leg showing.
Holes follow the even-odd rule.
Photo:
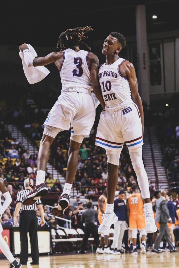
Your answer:
[[[1,205],[1,196],[5,198],[5,201],[3,205]],[[12,202],[12,198],[10,196],[9,191],[7,191],[7,188],[4,184],[3,179],[0,178],[0,219],[2,217],[2,214],[4,211],[8,208],[10,203]],[[10,248],[8,247],[8,244],[2,237],[2,225],[0,223],[0,249],[2,253],[6,256],[8,261],[10,262],[10,267],[11,268],[20,268],[22,267],[22,264],[17,261],[17,258],[13,257],[13,254],[10,252]]]

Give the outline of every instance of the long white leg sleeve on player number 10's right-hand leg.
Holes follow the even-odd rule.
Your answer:
[[[141,194],[143,198],[150,198],[149,191],[149,180],[147,173],[144,168],[144,163],[142,160],[142,151],[141,152],[130,152],[130,159],[132,161],[133,169],[137,175],[138,186],[140,187]]]

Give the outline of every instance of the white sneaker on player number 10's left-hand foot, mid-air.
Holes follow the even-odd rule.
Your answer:
[[[98,228],[98,233],[105,233],[110,230],[112,224],[118,221],[118,217],[113,213],[105,213],[102,215],[102,224]]]

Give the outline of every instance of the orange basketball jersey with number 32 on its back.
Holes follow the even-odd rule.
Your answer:
[[[143,201],[141,200],[140,193],[130,194],[128,198],[128,204],[130,208],[130,215],[144,214],[144,204]]]

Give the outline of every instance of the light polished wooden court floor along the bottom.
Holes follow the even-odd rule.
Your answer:
[[[161,254],[146,255],[139,253],[136,255],[107,255],[107,254],[75,254],[75,255],[56,255],[44,256],[39,259],[38,265],[30,265],[29,258],[28,268],[178,268],[179,267],[179,251],[176,253],[164,252]],[[8,261],[0,260],[0,267],[7,268]]]

